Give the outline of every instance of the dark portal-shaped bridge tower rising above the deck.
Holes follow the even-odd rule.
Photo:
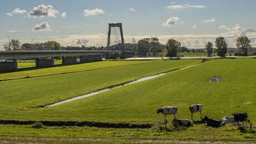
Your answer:
[[[107,35],[107,49],[110,46],[110,34],[111,34],[111,28],[112,27],[119,27],[120,33],[121,33],[121,41],[122,41],[122,58],[126,58],[125,54],[125,43],[124,43],[124,35],[122,33],[122,23],[109,23],[109,34]]]

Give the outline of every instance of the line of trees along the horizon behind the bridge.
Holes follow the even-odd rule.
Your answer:
[[[237,56],[247,56],[248,53],[252,54],[253,49],[250,45],[250,40],[248,37],[238,37],[236,41],[237,51],[235,55]],[[218,56],[225,57],[228,51],[228,44],[225,42],[224,37],[218,37],[215,40],[215,46],[216,48],[213,48],[213,43],[208,42],[205,45],[205,51],[208,56],[210,56],[213,51],[215,51]],[[6,51],[12,51],[12,50],[93,50],[96,47],[75,47],[75,46],[67,46],[67,47],[61,47],[60,43],[56,41],[48,41],[45,43],[23,43],[21,45],[21,42],[19,42],[18,39],[11,39],[9,43],[3,44],[4,49]],[[112,51],[121,51],[122,44],[118,43],[113,46],[110,46],[110,50]],[[136,44],[131,43],[125,43],[125,50],[126,51],[134,51],[134,52],[140,52],[141,56],[146,56],[148,53],[153,54],[153,56],[156,56],[157,52],[164,52],[165,56],[168,57],[176,57],[179,56],[178,53],[183,52],[204,52],[203,49],[189,49],[186,47],[181,47],[181,43],[179,41],[176,41],[175,39],[169,39],[166,42],[166,45],[160,44],[158,38],[143,38],[140,39]],[[255,54],[255,52],[254,52]]]

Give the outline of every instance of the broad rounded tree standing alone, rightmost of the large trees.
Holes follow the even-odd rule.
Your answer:
[[[237,46],[237,53],[239,56],[246,56],[250,49],[252,49],[248,37],[238,37],[235,45]]]

